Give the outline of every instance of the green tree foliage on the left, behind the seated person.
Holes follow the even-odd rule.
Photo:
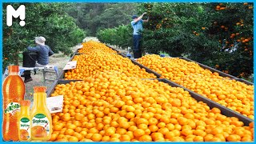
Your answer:
[[[8,3],[10,4],[10,3]],[[34,45],[34,37],[43,36],[55,53],[70,54],[70,47],[82,42],[85,32],[78,28],[74,18],[66,14],[65,3],[23,3],[26,6],[26,25],[6,26],[6,6],[3,5],[3,66],[18,65],[18,54]],[[11,3],[15,10],[22,3]]]

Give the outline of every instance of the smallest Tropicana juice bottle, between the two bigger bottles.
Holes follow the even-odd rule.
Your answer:
[[[21,113],[18,117],[19,141],[31,140],[30,101],[21,102]]]

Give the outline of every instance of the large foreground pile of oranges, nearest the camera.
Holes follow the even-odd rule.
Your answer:
[[[62,113],[52,114],[58,142],[250,142],[254,125],[197,102],[189,92],[158,80],[105,71],[58,84]]]

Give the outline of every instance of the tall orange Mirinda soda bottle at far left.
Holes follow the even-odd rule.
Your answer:
[[[9,66],[8,70],[9,75],[2,84],[2,137],[4,141],[18,141],[18,114],[20,102],[24,99],[25,85],[18,75],[18,66]]]

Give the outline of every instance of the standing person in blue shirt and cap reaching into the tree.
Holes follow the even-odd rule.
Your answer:
[[[141,50],[141,39],[142,39],[142,24],[143,22],[149,22],[149,17],[146,20],[142,20],[143,16],[146,13],[143,13],[141,16],[133,15],[133,21],[130,22],[131,26],[134,29],[134,58],[141,58],[142,57],[142,50]]]

